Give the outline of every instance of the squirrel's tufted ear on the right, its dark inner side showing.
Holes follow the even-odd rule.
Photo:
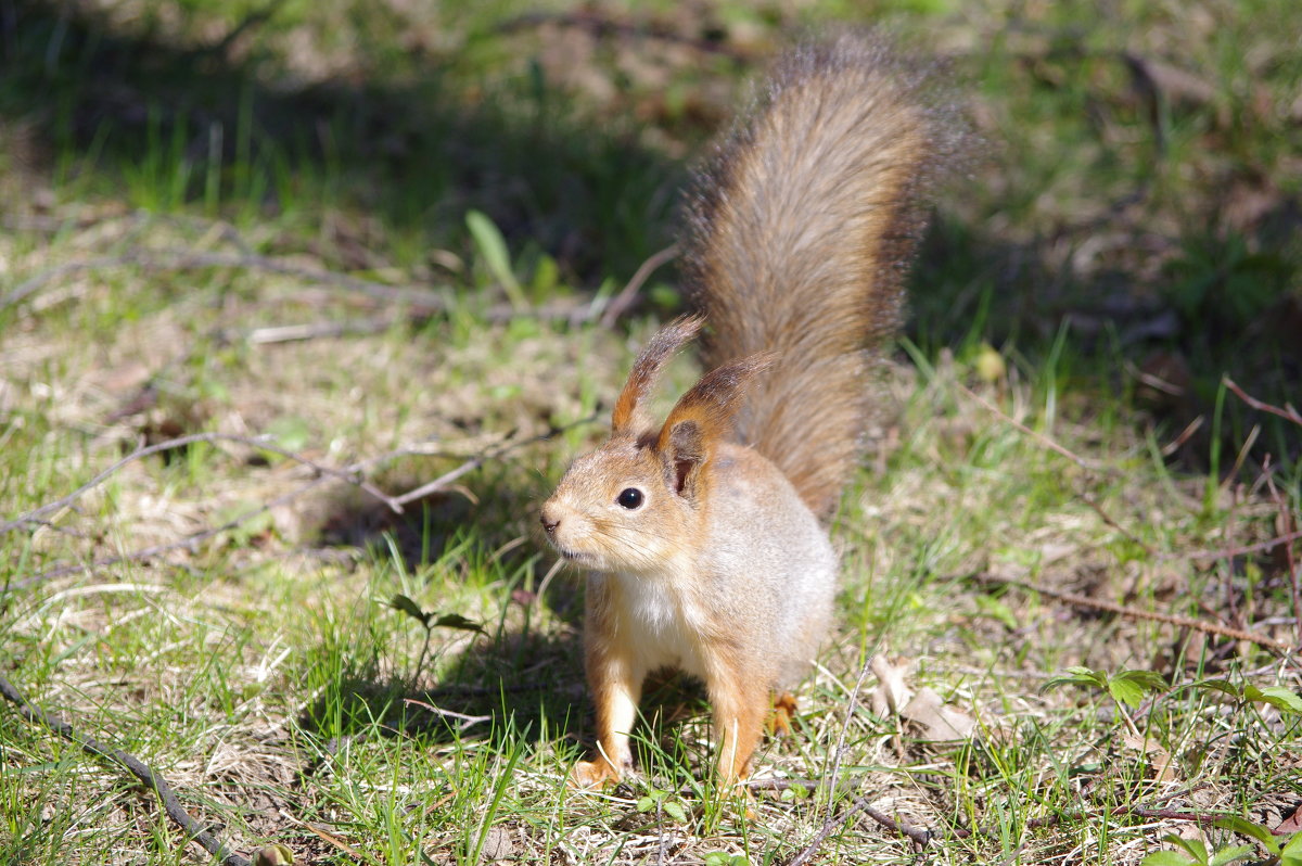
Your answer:
[[[656,451],[672,465],[680,494],[697,492],[699,470],[713,453],[715,443],[732,431],[746,387],[772,362],[773,356],[763,353],[711,370],[678,398],[660,428]]]

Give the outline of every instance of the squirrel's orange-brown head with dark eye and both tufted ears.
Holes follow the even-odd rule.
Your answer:
[[[642,398],[700,326],[700,318],[681,318],[651,339],[615,404],[611,439],[575,460],[543,503],[543,529],[565,559],[644,573],[699,550],[715,449],[732,432],[746,385],[769,365],[768,356],[753,356],[707,372],[656,430]]]

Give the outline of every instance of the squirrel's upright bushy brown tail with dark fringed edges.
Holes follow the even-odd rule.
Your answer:
[[[842,36],[779,61],[695,178],[686,277],[712,328],[703,361],[776,353],[737,428],[816,514],[859,458],[868,367],[900,326],[926,193],[962,138],[954,115],[927,69]]]

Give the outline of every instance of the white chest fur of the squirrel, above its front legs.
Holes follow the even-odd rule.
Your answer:
[[[691,621],[681,599],[664,582],[620,574],[620,626],[629,630],[639,667],[681,668],[704,676],[698,646],[700,625]]]

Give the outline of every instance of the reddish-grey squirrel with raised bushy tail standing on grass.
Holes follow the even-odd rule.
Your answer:
[[[684,280],[699,314],[651,339],[609,440],[542,507],[551,544],[589,569],[598,754],[572,784],[633,770],[642,682],[660,668],[704,681],[725,784],[749,776],[775,699],[786,727],[832,621],[825,521],[861,457],[870,369],[961,139],[931,69],[845,35],[781,57],[695,175]],[[644,397],[707,322],[708,372],[654,423]]]

